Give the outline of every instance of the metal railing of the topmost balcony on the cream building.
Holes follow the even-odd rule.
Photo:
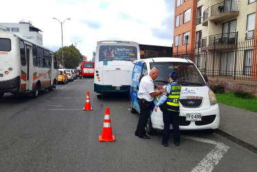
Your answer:
[[[211,6],[210,16],[221,14],[224,12],[238,11],[238,2],[237,0],[229,0],[221,3],[217,3],[214,6]]]

